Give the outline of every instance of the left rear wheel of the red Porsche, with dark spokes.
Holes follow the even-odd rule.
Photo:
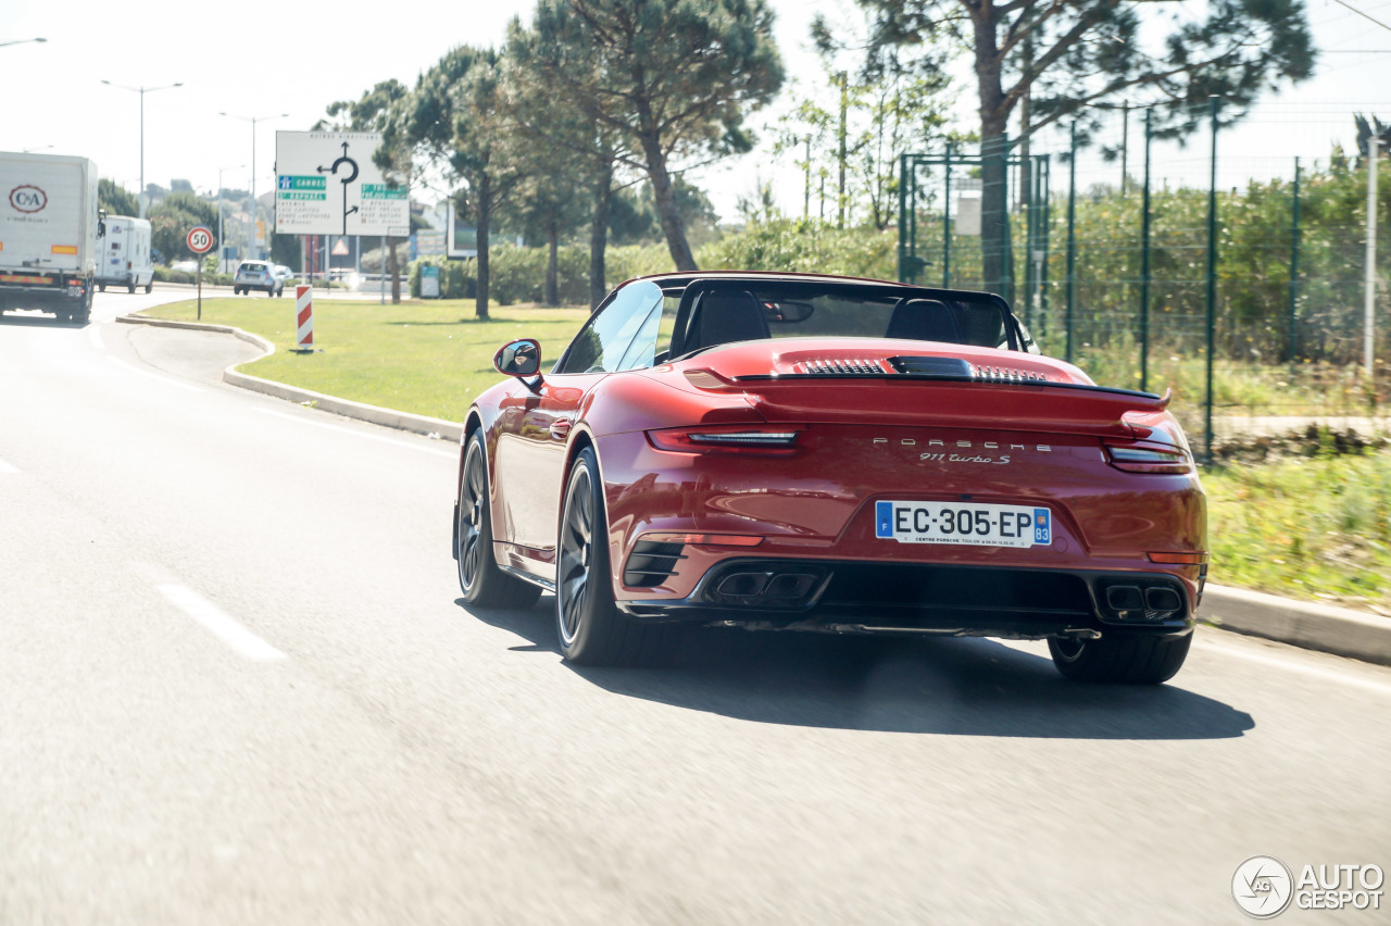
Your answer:
[[[565,484],[555,570],[561,655],[586,666],[637,666],[672,648],[672,624],[625,617],[613,603],[608,517],[594,448],[580,450]]]

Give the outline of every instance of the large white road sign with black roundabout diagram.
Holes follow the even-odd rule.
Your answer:
[[[275,132],[275,231],[410,234],[410,197],[371,163],[377,132]]]

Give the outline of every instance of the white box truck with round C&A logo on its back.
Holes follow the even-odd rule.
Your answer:
[[[86,321],[102,234],[96,164],[0,152],[0,311]]]

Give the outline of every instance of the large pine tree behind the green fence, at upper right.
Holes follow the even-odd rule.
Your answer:
[[[1203,124],[1217,96],[1225,121],[1239,118],[1260,90],[1313,71],[1314,51],[1301,0],[1214,0],[1206,18],[1182,0],[857,0],[871,13],[872,44],[917,46],[928,64],[970,49],[979,104],[982,242],[986,285],[1004,289],[1007,254],[1006,156],[1010,118],[1022,108],[1021,136],[1125,90],[1153,106],[1160,136]],[[1155,15],[1142,36],[1141,10]],[[1173,10],[1164,28],[1159,14]],[[1181,13],[1182,11],[1182,13]],[[1086,120],[1081,118],[1084,136]]]

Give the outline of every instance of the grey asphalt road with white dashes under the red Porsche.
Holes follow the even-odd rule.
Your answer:
[[[459,603],[453,446],[111,321],[161,298],[0,323],[3,923],[1241,923],[1248,856],[1391,868],[1391,670],[1212,630],[1146,690],[971,640],[574,669],[552,598]]]

